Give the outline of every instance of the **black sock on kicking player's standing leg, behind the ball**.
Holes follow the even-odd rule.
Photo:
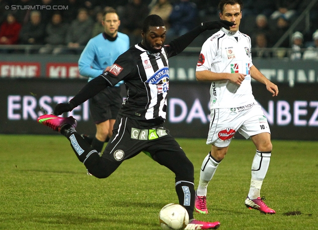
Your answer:
[[[189,181],[177,181],[175,183],[175,191],[178,195],[179,204],[188,211],[189,220],[193,219],[195,198],[194,183]]]

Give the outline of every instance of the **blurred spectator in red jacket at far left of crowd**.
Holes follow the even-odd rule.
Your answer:
[[[18,44],[20,30],[21,23],[16,21],[14,14],[8,13],[6,21],[2,22],[0,27],[0,44]]]

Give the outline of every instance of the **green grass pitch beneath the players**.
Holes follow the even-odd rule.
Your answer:
[[[194,164],[197,186],[210,146],[205,139],[177,141]],[[261,196],[275,215],[244,206],[255,147],[234,139],[209,184],[209,214],[195,218],[220,221],[220,230],[318,230],[318,142],[272,142]],[[177,203],[173,173],[145,154],[97,179],[62,135],[0,135],[0,170],[1,230],[160,230],[159,210]]]

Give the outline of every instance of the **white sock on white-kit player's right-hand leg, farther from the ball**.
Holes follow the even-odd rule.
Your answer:
[[[270,156],[270,152],[261,152],[256,150],[252,163],[252,178],[250,180],[250,188],[248,192],[248,198],[251,200],[260,197],[260,189],[267,173]]]

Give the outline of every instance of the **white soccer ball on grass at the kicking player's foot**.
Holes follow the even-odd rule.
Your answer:
[[[167,204],[159,213],[159,224],[163,230],[183,230],[189,223],[187,210],[178,204]]]

